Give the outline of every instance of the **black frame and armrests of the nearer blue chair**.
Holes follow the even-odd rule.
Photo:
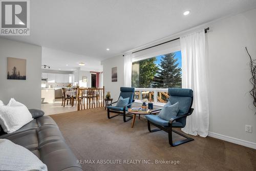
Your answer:
[[[168,133],[169,144],[170,144],[171,146],[177,146],[177,145],[180,145],[180,144],[184,144],[184,143],[186,143],[186,142],[189,142],[189,141],[193,141],[193,140],[194,140],[193,138],[190,138],[190,137],[188,137],[188,136],[186,136],[186,135],[184,135],[184,134],[182,134],[182,133],[180,133],[180,132],[178,132],[178,131],[173,130],[173,127],[184,127],[184,126],[172,126],[172,124],[173,124],[173,122],[174,122],[175,120],[180,119],[180,118],[183,118],[183,117],[187,117],[187,116],[189,116],[189,115],[191,115],[191,114],[193,113],[194,109],[191,108],[191,107],[192,107],[192,104],[193,104],[193,97],[192,97],[192,100],[191,100],[191,105],[190,105],[190,108],[189,108],[188,113],[186,113],[186,114],[184,114],[184,115],[176,116],[175,118],[170,118],[169,123],[168,123],[168,127],[164,127],[164,126],[155,124],[155,123],[153,123],[153,122],[147,120],[147,129],[148,129],[148,131],[151,132],[151,133],[152,133],[152,132],[156,132],[156,131],[161,131],[161,130],[162,130],[162,131],[165,131],[166,133]],[[152,112],[150,113],[150,115],[151,115],[151,114],[157,114],[157,113],[159,113],[160,111],[161,111],[161,109],[152,111]],[[159,129],[151,130],[151,124],[154,125],[154,126],[156,126],[156,127],[158,127]],[[175,132],[176,134],[179,134],[179,135],[181,135],[182,137],[184,137],[184,138],[186,138],[186,139],[173,142],[173,133],[172,133],[172,132]]]

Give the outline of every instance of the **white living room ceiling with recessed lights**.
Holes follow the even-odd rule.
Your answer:
[[[5,38],[103,60],[253,8],[256,0],[33,0],[30,36]]]

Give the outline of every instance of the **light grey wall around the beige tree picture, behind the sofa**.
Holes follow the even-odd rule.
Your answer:
[[[7,79],[7,57],[27,59],[27,80]],[[41,47],[0,38],[0,100],[41,109]]]

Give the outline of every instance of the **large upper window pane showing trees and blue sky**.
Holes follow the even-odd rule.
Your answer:
[[[132,87],[181,88],[181,51],[133,62]]]

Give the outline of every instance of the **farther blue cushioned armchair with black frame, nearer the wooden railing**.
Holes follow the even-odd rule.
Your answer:
[[[131,120],[133,118],[133,116],[131,115],[127,115],[126,112],[128,110],[128,108],[131,108],[132,103],[134,102],[134,92],[135,89],[134,88],[129,88],[129,87],[121,87],[120,88],[120,95],[118,97],[118,99],[122,96],[122,98],[130,98],[129,99],[129,103],[125,106],[123,106],[122,108],[118,108],[116,106],[112,106],[112,104],[117,103],[117,101],[110,103],[107,108],[108,108],[108,118],[114,118],[118,115],[123,116],[123,122],[127,122],[129,120]],[[110,116],[110,113],[117,113],[117,115],[114,116]],[[126,119],[126,117],[129,117],[129,119]]]

